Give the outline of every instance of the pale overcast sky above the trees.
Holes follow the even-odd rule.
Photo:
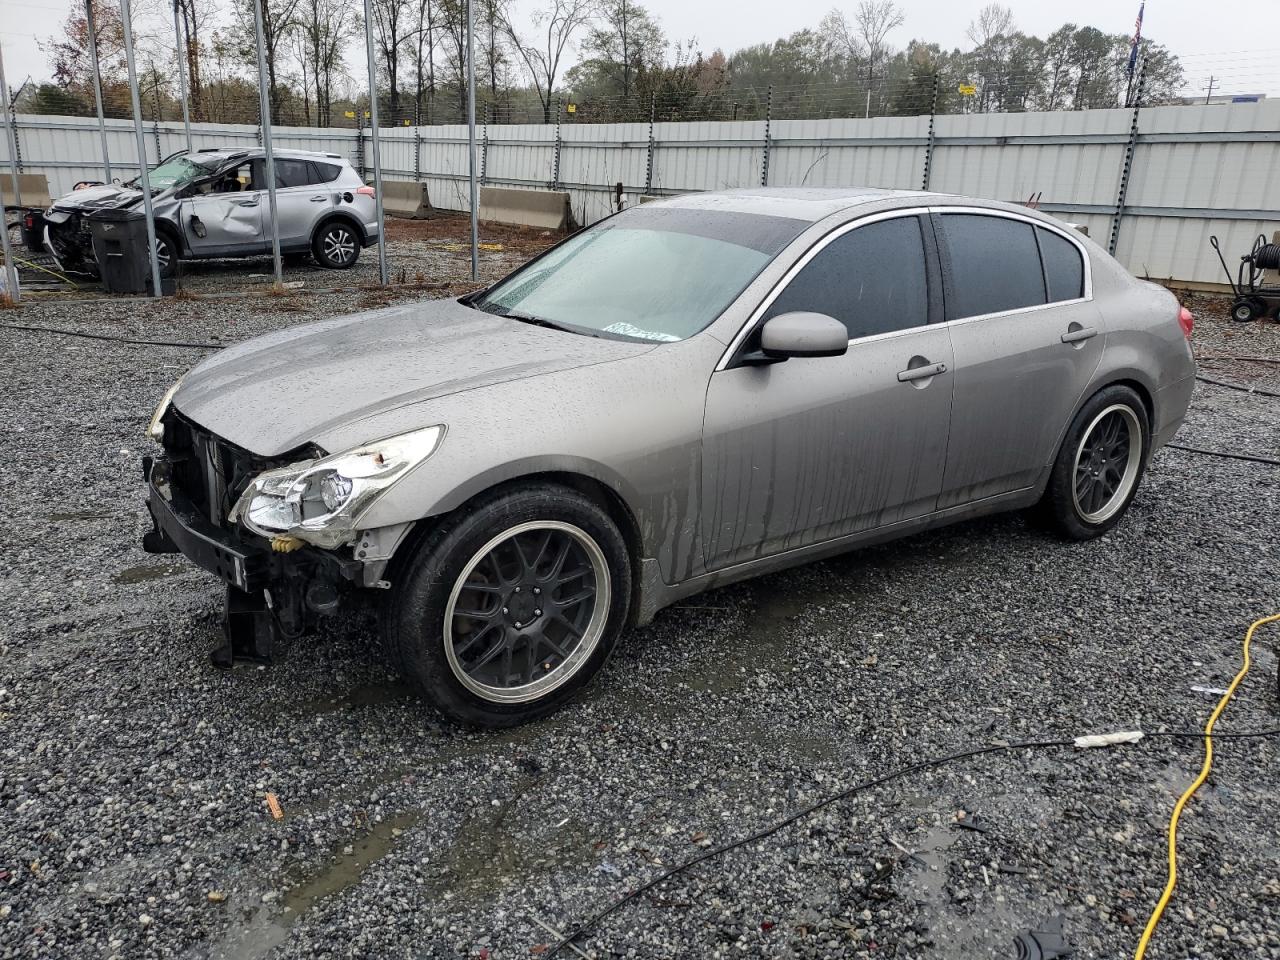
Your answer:
[[[49,77],[49,64],[37,46],[58,32],[72,0],[0,0],[0,49],[5,77],[15,87],[28,76]],[[517,9],[532,10],[538,0],[516,0]],[[815,27],[831,9],[832,0],[646,0],[672,41],[698,40],[710,52],[726,54],[776,40],[805,27]],[[846,0],[844,9],[852,9]],[[966,47],[965,27],[982,0],[902,0],[906,23],[890,36],[896,47],[913,37],[942,46]],[[1019,29],[1044,36],[1070,19],[1108,33],[1128,33],[1138,3],[1121,0],[1074,0],[1051,4],[1043,0],[1006,0]],[[1277,0],[1151,0],[1147,4],[1144,36],[1167,45],[1183,58],[1190,90],[1212,73],[1221,92],[1266,92],[1280,96],[1280,1]],[[353,51],[352,60],[362,60]]]

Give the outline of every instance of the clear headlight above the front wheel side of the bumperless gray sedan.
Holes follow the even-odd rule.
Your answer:
[[[443,425],[428,426],[259,474],[227,518],[269,539],[340,547],[355,539],[365,508],[435,453],[443,436]]]

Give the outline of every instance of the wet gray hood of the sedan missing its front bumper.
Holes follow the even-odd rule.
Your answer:
[[[306,443],[333,453],[326,435],[389,410],[653,348],[424,301],[246,340],[188,372],[173,402],[261,457]]]

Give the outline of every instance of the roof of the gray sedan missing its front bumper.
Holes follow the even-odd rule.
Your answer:
[[[763,214],[794,220],[818,221],[864,204],[897,201],[900,206],[984,206],[1009,209],[1007,204],[991,200],[931,193],[918,189],[884,189],[882,187],[756,187],[753,189],[708,191],[682,193],[663,198],[664,206],[686,210],[721,210],[735,214]],[[886,206],[893,206],[888,202]]]

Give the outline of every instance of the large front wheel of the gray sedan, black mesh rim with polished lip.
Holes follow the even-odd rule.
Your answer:
[[[387,598],[384,643],[440,713],[513,727],[586,686],[630,604],[631,559],[604,509],[556,484],[508,488],[413,547]]]

